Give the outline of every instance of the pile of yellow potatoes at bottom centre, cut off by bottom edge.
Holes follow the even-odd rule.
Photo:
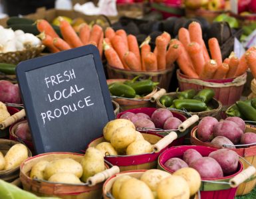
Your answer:
[[[201,185],[199,173],[193,168],[181,168],[170,174],[164,170],[151,169],[140,179],[129,175],[116,178],[112,186],[115,199],[187,199],[193,196]]]

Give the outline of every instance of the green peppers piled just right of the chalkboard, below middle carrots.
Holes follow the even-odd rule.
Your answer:
[[[111,96],[118,96],[122,98],[141,98],[150,94],[159,82],[153,82],[151,78],[148,80],[139,80],[137,76],[133,80],[126,80],[125,82],[114,82],[108,85],[108,90]]]

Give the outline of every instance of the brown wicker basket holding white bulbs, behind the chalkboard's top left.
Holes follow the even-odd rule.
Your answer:
[[[26,50],[0,53],[0,62],[9,64],[19,64],[24,60],[29,60],[39,56],[39,54],[45,49],[44,45],[40,45]]]

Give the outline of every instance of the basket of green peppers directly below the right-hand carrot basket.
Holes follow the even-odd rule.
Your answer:
[[[222,104],[213,98],[211,89],[196,92],[193,89],[183,92],[164,94],[156,100],[157,107],[167,107],[187,115],[198,115],[199,119],[205,116],[219,117]]]

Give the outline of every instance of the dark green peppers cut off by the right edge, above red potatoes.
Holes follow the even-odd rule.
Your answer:
[[[226,111],[227,116],[241,117],[244,120],[256,121],[256,98],[237,101]]]

